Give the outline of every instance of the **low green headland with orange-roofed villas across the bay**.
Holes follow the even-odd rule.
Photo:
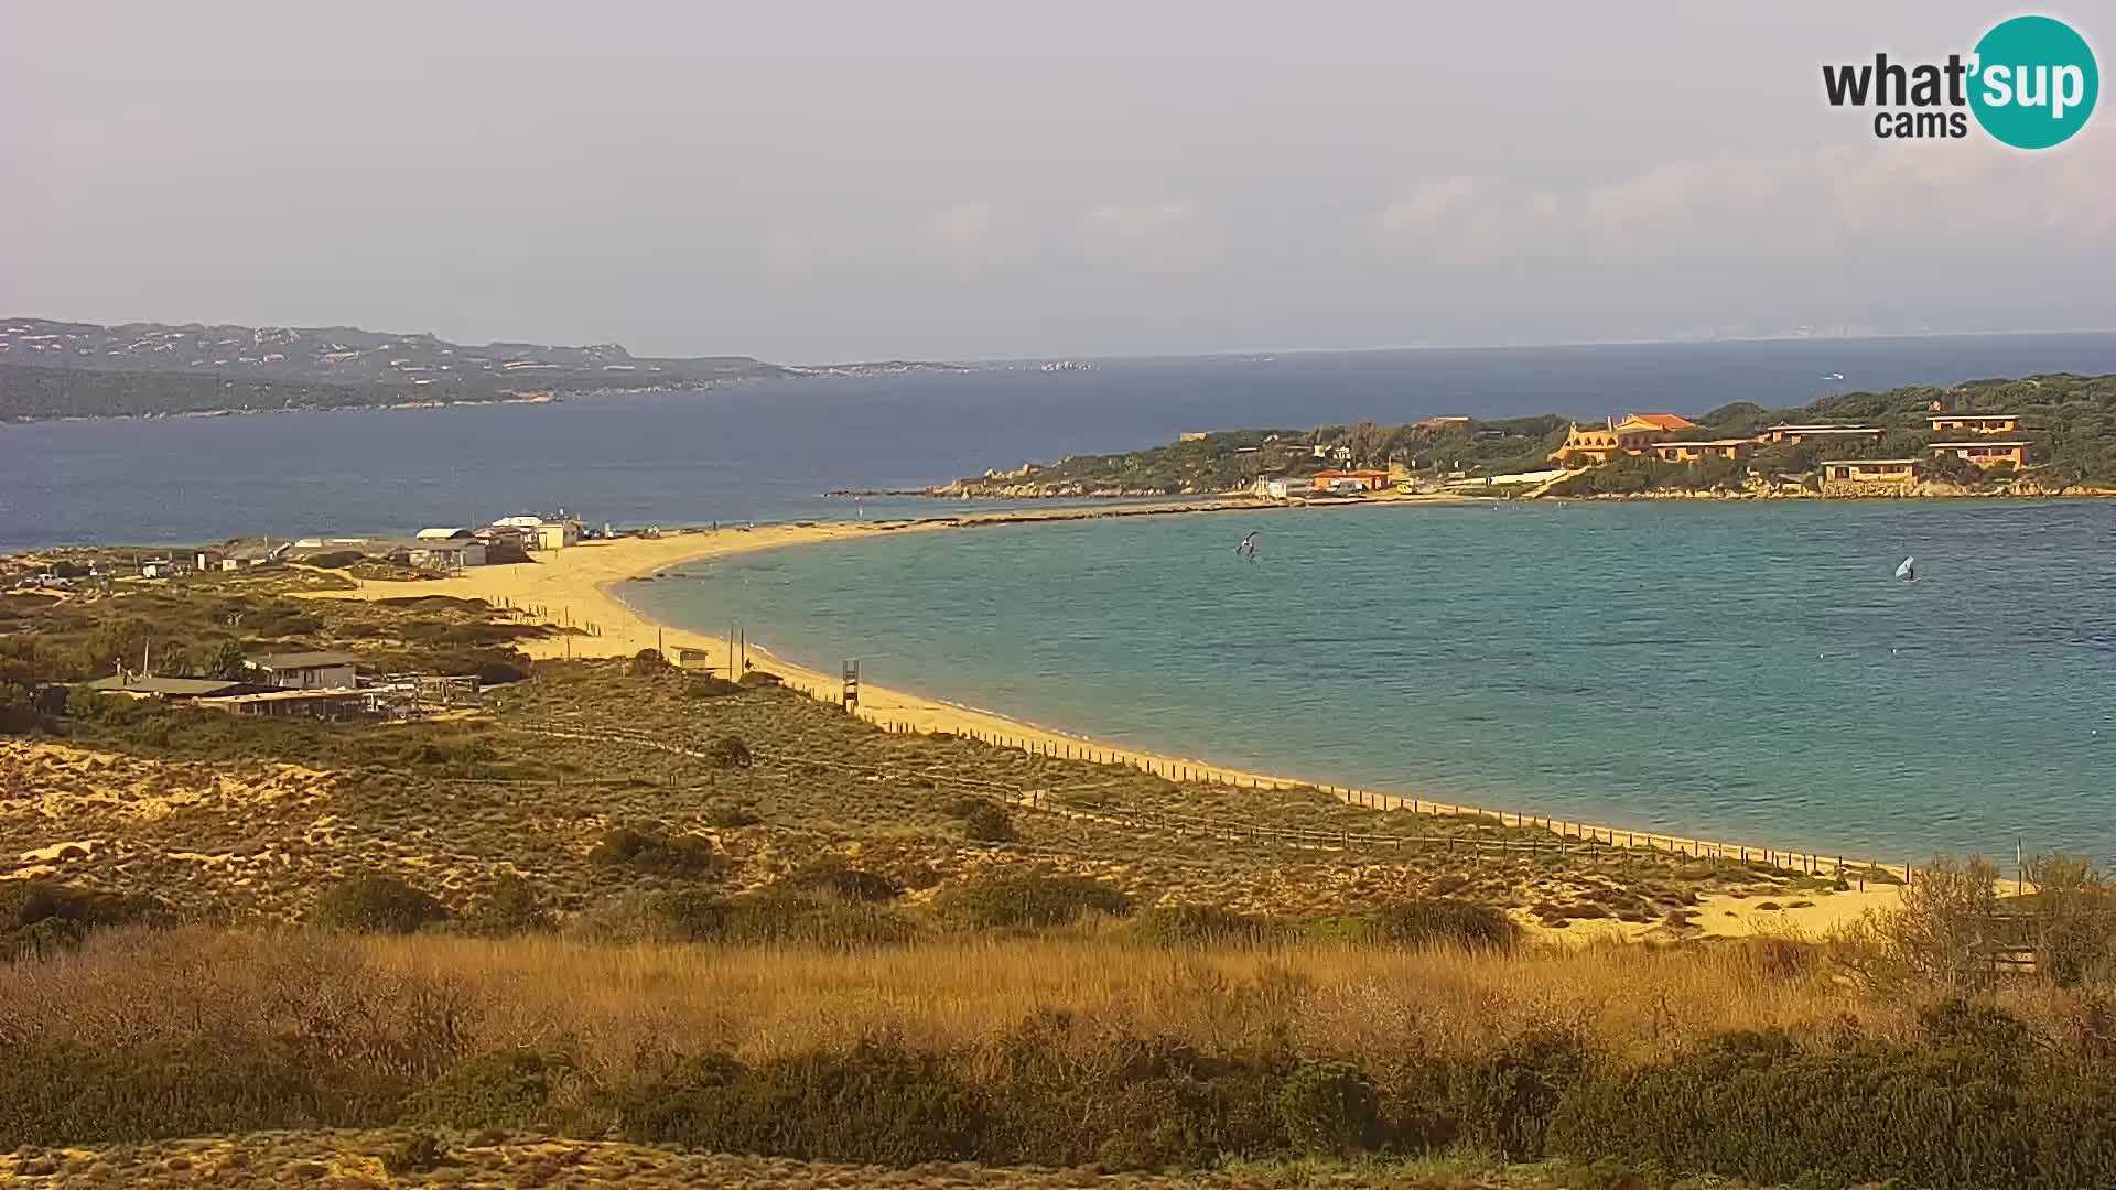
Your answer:
[[[1407,426],[1187,432],[1115,455],[1022,464],[942,498],[1232,495],[1957,495],[2116,493],[2116,375],[2069,373],[1722,404]]]

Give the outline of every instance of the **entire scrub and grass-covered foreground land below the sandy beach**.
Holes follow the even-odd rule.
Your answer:
[[[654,654],[531,663],[563,629],[476,599],[303,597],[339,582],[8,599],[0,1177],[2116,1177],[2084,862],[1729,938],[1894,877],[887,733]],[[514,680],[415,722],[80,686],[142,646]]]

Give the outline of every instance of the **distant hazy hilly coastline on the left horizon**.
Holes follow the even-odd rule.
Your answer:
[[[652,358],[616,343],[472,347],[355,326],[0,320],[0,421],[544,402],[766,379],[963,371],[969,368],[923,360],[796,366],[751,356]]]

